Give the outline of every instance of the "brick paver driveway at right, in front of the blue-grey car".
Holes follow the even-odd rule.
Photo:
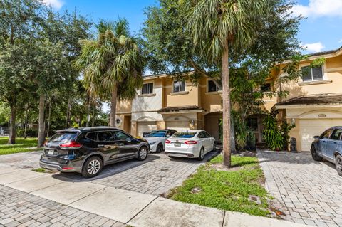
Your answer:
[[[266,186],[289,220],[311,226],[342,226],[342,177],[330,162],[309,152],[259,151]]]

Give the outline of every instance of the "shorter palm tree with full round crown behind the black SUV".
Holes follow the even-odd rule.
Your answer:
[[[76,67],[93,97],[110,97],[110,126],[115,127],[116,101],[132,99],[142,84],[145,60],[128,21],[100,21],[97,40],[81,41]]]

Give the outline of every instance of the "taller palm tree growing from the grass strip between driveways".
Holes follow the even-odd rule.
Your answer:
[[[231,166],[229,50],[243,50],[257,34],[270,0],[180,0],[195,46],[222,70],[224,165]]]

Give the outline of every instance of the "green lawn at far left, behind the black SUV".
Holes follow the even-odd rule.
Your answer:
[[[0,137],[0,155],[41,150],[36,148],[37,138],[16,138],[16,144],[7,144],[8,140],[9,137]]]

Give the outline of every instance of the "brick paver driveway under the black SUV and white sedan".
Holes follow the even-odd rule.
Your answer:
[[[119,189],[160,195],[182,184],[182,181],[187,179],[199,165],[204,164],[214,154],[217,153],[209,152],[204,161],[199,162],[196,159],[170,159],[164,153],[150,153],[143,162],[132,159],[106,166],[98,176],[91,179],[85,179],[81,174],[74,173],[56,174],[54,177],[61,176],[61,180],[68,178],[75,181],[90,181]],[[41,152],[9,154],[1,156],[0,164],[33,169],[39,167],[40,157]]]

